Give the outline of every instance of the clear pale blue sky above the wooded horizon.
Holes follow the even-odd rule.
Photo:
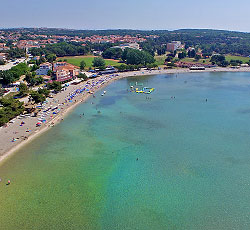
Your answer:
[[[249,0],[0,0],[0,28],[250,32]]]

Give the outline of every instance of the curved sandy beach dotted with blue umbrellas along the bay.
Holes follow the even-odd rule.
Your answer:
[[[134,72],[118,73],[118,76],[100,76],[82,82],[78,85],[69,85],[66,90],[48,98],[37,117],[17,117],[14,123],[8,123],[6,127],[0,128],[0,163],[11,156],[19,148],[37,138],[40,134],[53,128],[58,122],[72,111],[79,103],[85,102],[92,97],[97,90],[107,86],[114,80],[130,76],[144,76],[157,74],[178,74],[188,72],[250,72],[250,67],[239,69],[211,68],[201,71],[190,71],[189,69],[167,69],[167,70],[141,70]],[[40,122],[41,126],[36,127]]]

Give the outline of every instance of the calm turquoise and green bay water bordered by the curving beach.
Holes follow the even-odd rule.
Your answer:
[[[0,167],[0,229],[250,229],[249,73],[105,90]]]

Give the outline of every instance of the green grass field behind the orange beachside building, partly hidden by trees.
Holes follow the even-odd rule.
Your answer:
[[[92,62],[94,60],[95,56],[77,56],[77,57],[63,57],[63,58],[58,58],[58,60],[64,61],[65,59],[67,60],[68,63],[75,65],[75,66],[80,66],[80,63],[82,60],[85,61],[86,67],[89,68],[92,67]],[[106,66],[112,65],[112,66],[118,66],[121,65],[118,60],[111,60],[111,59],[105,59]]]

